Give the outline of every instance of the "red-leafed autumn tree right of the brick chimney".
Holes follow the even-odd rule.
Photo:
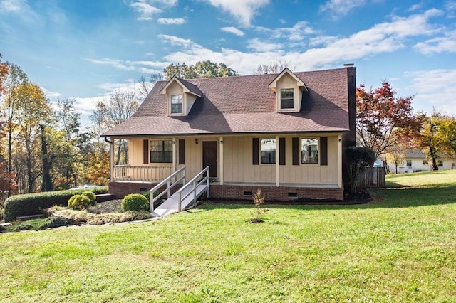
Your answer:
[[[363,147],[370,147],[375,156],[394,152],[399,145],[413,144],[410,134],[420,129],[415,117],[413,97],[396,97],[388,81],[375,90],[361,84],[356,89],[356,137]]]

